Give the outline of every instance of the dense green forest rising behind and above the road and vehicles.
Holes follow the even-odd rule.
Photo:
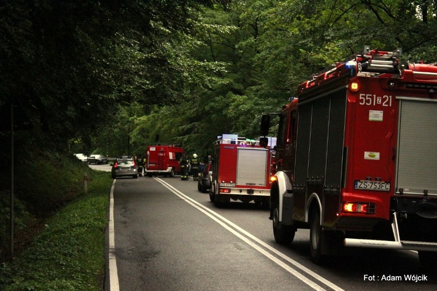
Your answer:
[[[257,138],[263,113],[365,45],[435,63],[437,1],[1,1],[0,37],[4,244],[12,160],[16,210],[38,215],[75,195],[47,178],[75,153],[203,156],[224,133]]]

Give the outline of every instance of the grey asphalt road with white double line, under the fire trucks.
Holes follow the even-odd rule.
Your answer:
[[[192,180],[117,179],[113,201],[123,291],[437,289],[435,272],[410,251],[350,248],[315,265],[307,230],[279,245],[268,211],[242,202],[217,209]]]

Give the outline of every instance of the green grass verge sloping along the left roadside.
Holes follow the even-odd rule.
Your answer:
[[[13,263],[0,266],[0,290],[102,290],[112,179],[90,175],[88,194],[57,211]]]

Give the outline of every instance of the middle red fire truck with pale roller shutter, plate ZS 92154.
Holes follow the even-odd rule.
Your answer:
[[[224,202],[254,201],[267,208],[270,201],[270,149],[259,141],[223,135],[214,144],[209,198],[220,207]]]

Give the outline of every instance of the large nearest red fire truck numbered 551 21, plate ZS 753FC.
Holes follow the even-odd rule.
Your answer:
[[[352,246],[415,250],[436,266],[437,64],[401,54],[365,46],[280,114],[269,218],[278,243],[309,228],[315,263]]]

